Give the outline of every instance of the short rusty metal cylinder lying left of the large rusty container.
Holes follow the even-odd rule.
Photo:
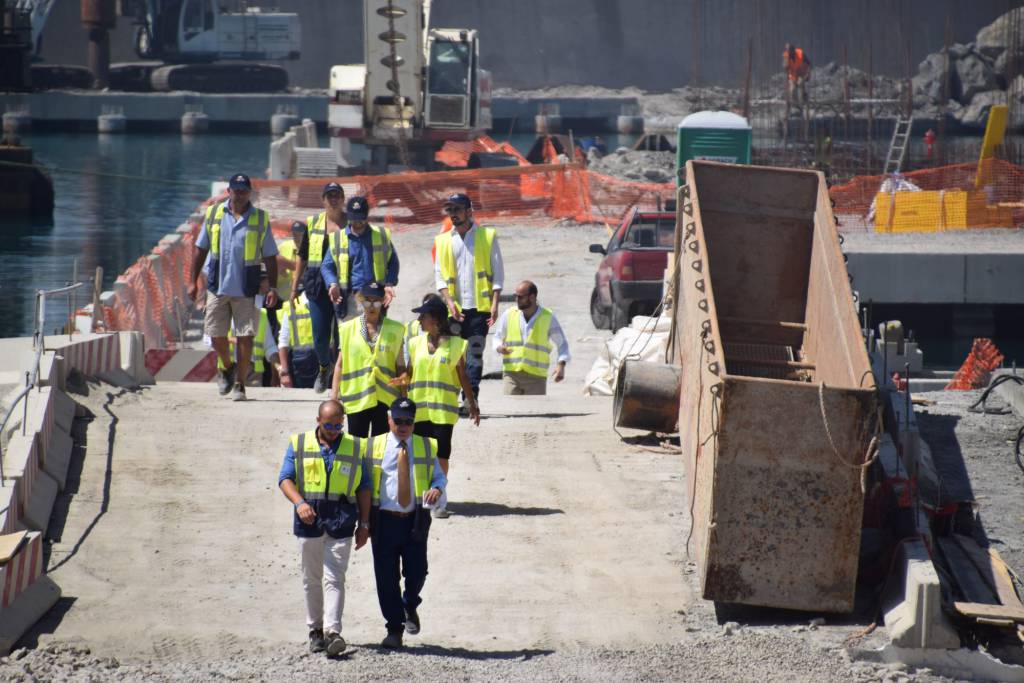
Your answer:
[[[624,362],[615,381],[615,426],[675,432],[682,377],[679,366],[636,359]]]

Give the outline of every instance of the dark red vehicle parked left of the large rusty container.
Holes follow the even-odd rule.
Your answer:
[[[608,245],[591,245],[603,254],[594,275],[590,317],[599,330],[630,324],[634,315],[649,315],[662,301],[662,281],[675,243],[676,214],[634,207]]]

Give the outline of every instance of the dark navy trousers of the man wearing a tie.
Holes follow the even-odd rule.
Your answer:
[[[381,511],[372,537],[377,600],[388,633],[406,628],[406,605],[423,602],[420,591],[427,581],[427,535],[414,533],[417,515],[392,517]],[[428,517],[429,519],[429,517]],[[401,591],[401,577],[406,591]]]

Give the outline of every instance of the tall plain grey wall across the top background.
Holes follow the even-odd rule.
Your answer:
[[[385,0],[380,0],[384,2]],[[360,0],[270,0],[299,12],[303,55],[286,62],[294,85],[327,86],[335,63],[362,61]],[[475,28],[497,87],[629,85],[664,90],[695,81],[738,87],[753,39],[754,78],[779,70],[786,41],[815,65],[840,61],[900,76],[1022,2],[1010,0],[434,0],[431,24]],[[61,0],[43,37],[49,62],[85,63],[79,3]],[[113,59],[135,59],[129,23],[112,37]]]

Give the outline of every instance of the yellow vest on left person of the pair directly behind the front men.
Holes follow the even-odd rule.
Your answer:
[[[401,397],[401,392],[388,382],[397,374],[404,326],[382,317],[377,342],[371,348],[362,338],[360,319],[353,317],[338,325],[338,353],[342,358],[338,400],[349,414],[368,411],[379,402],[390,405]]]

